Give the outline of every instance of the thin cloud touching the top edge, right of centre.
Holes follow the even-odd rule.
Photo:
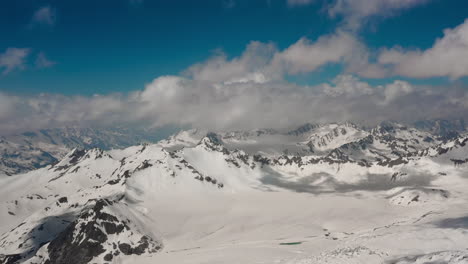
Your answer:
[[[372,17],[393,16],[398,11],[424,4],[429,0],[335,0],[328,6],[328,14],[341,16],[347,27],[358,29]]]

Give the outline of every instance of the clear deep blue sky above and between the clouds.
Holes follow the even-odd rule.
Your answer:
[[[133,1],[137,2],[137,1]],[[52,67],[26,68],[0,75],[8,93],[84,94],[127,92],[167,74],[178,74],[206,60],[214,50],[238,56],[252,40],[287,48],[301,37],[316,39],[340,23],[323,3],[290,8],[283,0],[15,0],[0,3],[0,53],[9,47],[43,52]],[[33,14],[50,6],[54,25],[31,24]],[[468,1],[434,0],[388,19],[374,19],[359,32],[370,48],[426,49],[443,29],[467,18]],[[320,82],[339,67],[297,78]],[[441,81],[434,79],[432,81]]]

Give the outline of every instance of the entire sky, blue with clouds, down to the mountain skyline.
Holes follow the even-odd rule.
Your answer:
[[[463,117],[467,10],[466,0],[2,1],[0,134]]]

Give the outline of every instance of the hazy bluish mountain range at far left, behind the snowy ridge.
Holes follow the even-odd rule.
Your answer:
[[[125,148],[156,142],[155,129],[66,127],[0,136],[0,174],[14,175],[58,162],[74,148]]]

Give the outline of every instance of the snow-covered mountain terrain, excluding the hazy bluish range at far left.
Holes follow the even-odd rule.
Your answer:
[[[333,124],[75,149],[0,177],[0,261],[468,263],[468,136],[429,136]]]

